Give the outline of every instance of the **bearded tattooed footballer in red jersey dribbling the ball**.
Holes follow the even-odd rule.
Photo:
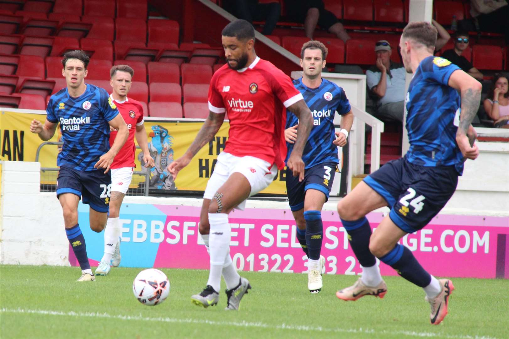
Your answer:
[[[210,81],[210,114],[186,153],[168,165],[174,179],[192,157],[212,140],[224,120],[230,119],[229,138],[217,157],[214,173],[204,193],[200,234],[210,254],[209,280],[191,301],[208,307],[219,300],[221,275],[227,286],[227,309],[239,309],[250,289],[240,277],[230,256],[230,224],[233,208],[244,209],[246,199],[266,188],[285,166],[286,109],[299,120],[299,134],[287,166],[304,178],[302,151],[313,126],[313,118],[292,80],[254,51],[254,29],[245,20],[235,20],[221,33],[228,61]]]

